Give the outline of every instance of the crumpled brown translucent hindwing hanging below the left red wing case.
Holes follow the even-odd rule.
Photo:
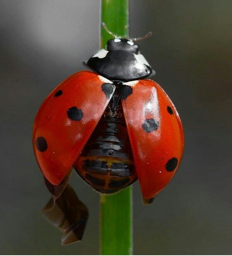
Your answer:
[[[61,238],[63,245],[82,239],[89,216],[87,207],[78,199],[72,187],[67,184],[70,173],[67,176],[60,185],[56,186],[45,180],[53,197],[42,211],[44,218],[63,232]]]

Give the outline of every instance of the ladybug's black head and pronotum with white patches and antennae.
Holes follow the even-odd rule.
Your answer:
[[[104,25],[103,25],[104,26]],[[104,26],[106,31],[113,35]],[[106,49],[98,50],[87,62],[87,66],[105,78],[114,81],[133,81],[155,73],[150,64],[140,54],[137,41],[148,38],[117,38],[107,42]]]

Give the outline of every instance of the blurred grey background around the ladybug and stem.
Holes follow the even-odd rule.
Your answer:
[[[130,35],[153,31],[140,46],[186,140],[152,205],[133,185],[134,254],[232,253],[231,10],[231,0],[130,1]],[[31,142],[41,102],[98,50],[99,12],[99,0],[0,0],[1,254],[99,254],[99,194],[73,173],[90,216],[82,242],[60,246],[41,216],[50,195]]]

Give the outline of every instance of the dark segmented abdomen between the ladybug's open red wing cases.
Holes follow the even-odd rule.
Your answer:
[[[112,104],[73,165],[82,179],[95,190],[110,194],[137,180],[121,104],[112,112]]]

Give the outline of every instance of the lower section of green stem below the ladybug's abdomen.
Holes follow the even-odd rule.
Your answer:
[[[132,189],[101,195],[101,254],[132,254]]]

